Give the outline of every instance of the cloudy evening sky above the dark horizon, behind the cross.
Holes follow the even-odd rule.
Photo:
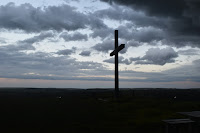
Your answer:
[[[199,0],[1,0],[0,87],[200,88]]]

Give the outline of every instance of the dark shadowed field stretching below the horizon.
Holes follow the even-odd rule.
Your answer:
[[[200,110],[195,90],[0,89],[3,133],[163,133],[163,119]]]

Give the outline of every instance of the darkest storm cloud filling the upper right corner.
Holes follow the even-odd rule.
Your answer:
[[[108,0],[102,1],[109,2]],[[184,47],[186,45],[199,47],[199,0],[112,0],[112,2],[117,5],[124,5],[133,9],[132,12],[126,10],[125,7],[123,12],[120,12],[119,10],[118,12],[125,16],[123,17],[117,12],[120,20],[121,18],[129,20],[137,26],[141,26],[141,24],[145,22],[143,27],[149,25],[161,29],[166,34],[164,37],[161,36],[161,39],[164,38],[167,40],[167,45],[173,45],[176,47]],[[116,9],[115,6],[116,5],[113,4],[114,8],[109,9],[110,11],[108,9],[102,11],[105,13],[107,12],[108,15],[103,15],[101,12],[98,14],[101,14],[104,17],[117,19],[114,18],[117,16],[114,15],[114,10]],[[140,12],[144,12],[146,16]],[[139,17],[137,17],[136,14],[138,14]],[[143,20],[141,16],[143,16]],[[149,39],[147,39],[147,41],[148,40]]]

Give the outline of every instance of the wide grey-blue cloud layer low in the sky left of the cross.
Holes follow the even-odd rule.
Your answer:
[[[106,70],[101,63],[80,62],[69,56],[55,57],[43,52],[26,54],[8,49],[0,49],[0,62],[1,78],[84,80],[80,77],[87,79],[89,75]]]

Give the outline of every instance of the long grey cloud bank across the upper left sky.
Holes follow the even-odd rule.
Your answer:
[[[0,6],[0,28],[3,29],[41,32],[75,31],[87,27],[95,29],[107,26],[97,17],[80,13],[66,4],[44,8],[35,8],[31,4],[17,6],[14,3]]]

